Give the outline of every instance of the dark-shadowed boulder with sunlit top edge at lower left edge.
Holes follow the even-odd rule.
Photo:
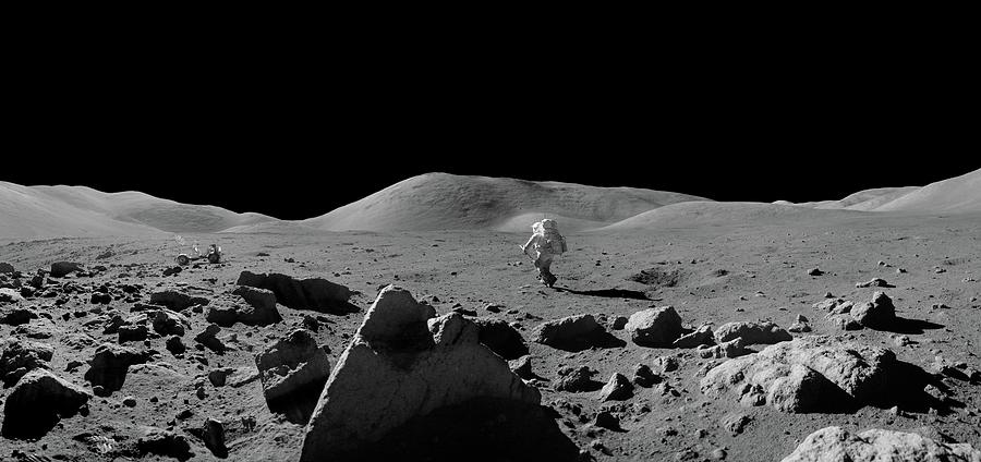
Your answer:
[[[36,369],[25,375],[3,405],[5,438],[34,439],[46,435],[61,418],[75,415],[90,396],[51,374]]]

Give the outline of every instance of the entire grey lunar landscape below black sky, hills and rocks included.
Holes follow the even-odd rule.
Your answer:
[[[979,179],[429,174],[305,221],[0,183],[0,459],[979,461]]]

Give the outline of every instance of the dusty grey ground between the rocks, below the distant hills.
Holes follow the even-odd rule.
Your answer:
[[[118,343],[118,335],[102,333],[107,313],[131,315],[135,303],[150,293],[175,287],[221,303],[243,270],[282,272],[296,278],[320,277],[354,291],[351,302],[361,313],[331,315],[278,306],[282,320],[266,327],[235,324],[219,338],[230,349],[217,353],[196,348],[194,336],[207,327],[207,309],[185,309],[191,327],[182,337],[187,352],[180,357],[166,346],[170,336],[150,333],[147,340],[124,345],[157,352],[146,366],[131,366],[120,390],[94,396],[85,415],[61,418],[37,439],[0,439],[0,458],[26,460],[26,454],[52,460],[172,460],[136,449],[144,427],[170,429],[186,438],[182,459],[217,459],[194,431],[206,418],[226,429],[229,460],[295,460],[302,424],[267,408],[262,384],[254,375],[254,355],[276,339],[317,319],[317,343],[329,349],[330,364],[346,348],[380,287],[399,284],[427,300],[445,314],[472,309],[480,317],[514,323],[531,352],[532,372],[540,377],[542,403],[554,410],[556,425],[579,448],[597,460],[775,461],[791,453],[811,433],[836,425],[848,430],[868,428],[920,433],[981,448],[981,386],[970,380],[938,377],[946,404],[883,403],[835,413],[790,414],[770,406],[746,408],[732,400],[702,394],[700,379],[725,360],[703,360],[694,349],[639,346],[625,330],[608,331],[622,342],[602,348],[564,351],[532,341],[541,323],[570,315],[593,314],[613,324],[652,306],[673,305],[691,327],[718,327],[737,320],[772,320],[788,328],[798,315],[809,319],[809,332],[892,350],[899,361],[927,372],[936,355],[950,363],[981,368],[981,217],[838,217],[835,221],[785,221],[697,228],[661,227],[650,231],[569,234],[570,252],[553,270],[555,290],[535,281],[533,267],[517,245],[523,234],[492,232],[322,233],[185,235],[203,244],[218,242],[226,259],[165,277],[181,248],[173,239],[56,239],[8,243],[0,262],[29,279],[37,269],[59,260],[86,268],[105,266],[94,276],[52,279],[50,297],[34,296],[29,306],[40,316],[19,326],[0,326],[7,338],[46,343],[55,349],[48,368],[92,392],[87,364],[102,343]],[[111,256],[105,256],[111,251]],[[104,256],[104,258],[97,258]],[[819,276],[809,275],[820,268]],[[905,270],[898,272],[898,269]],[[643,272],[642,271],[646,271]],[[857,288],[882,278],[894,287]],[[635,280],[631,280],[635,279]],[[78,290],[65,293],[64,283]],[[109,283],[111,293],[123,284],[142,284],[141,300],[120,297],[93,304],[93,291]],[[869,301],[883,291],[892,297],[900,327],[844,331],[824,320],[812,305],[836,297]],[[487,311],[487,305],[500,307]],[[9,309],[12,305],[3,307]],[[897,340],[899,336],[906,339]],[[759,351],[762,345],[750,346]],[[677,360],[678,368],[662,372],[661,356]],[[602,402],[602,386],[615,373],[633,377],[637,364],[649,365],[662,381],[638,387],[622,401]],[[556,391],[558,372],[588,366],[597,374],[593,391]],[[207,374],[221,367],[243,368],[244,384],[214,386]],[[242,377],[239,377],[242,378]],[[666,384],[666,385],[665,385]],[[370,384],[366,384],[370,386]],[[899,384],[897,384],[899,386]],[[0,389],[0,400],[13,387]],[[203,391],[198,391],[203,390]],[[135,404],[124,403],[133,397]],[[892,405],[897,404],[896,411]],[[619,429],[596,426],[602,411],[619,420]]]

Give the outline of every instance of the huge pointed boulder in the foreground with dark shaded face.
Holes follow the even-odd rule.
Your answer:
[[[549,431],[558,429],[538,391],[480,343],[477,326],[434,316],[403,289],[379,292],[320,396],[300,460],[574,460],[574,445]]]

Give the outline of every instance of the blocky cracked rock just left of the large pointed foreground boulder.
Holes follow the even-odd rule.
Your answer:
[[[310,421],[330,375],[327,353],[308,330],[295,329],[255,356],[269,410],[293,423]]]

